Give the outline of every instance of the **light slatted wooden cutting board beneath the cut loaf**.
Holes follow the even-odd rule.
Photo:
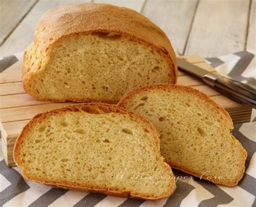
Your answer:
[[[203,67],[209,72],[215,72],[214,68],[208,65],[203,58],[197,55],[181,57],[186,61]],[[18,65],[17,65],[18,64]],[[28,121],[38,113],[70,105],[70,102],[55,103],[50,101],[38,101],[26,94],[21,82],[22,61],[18,61],[1,73],[0,78],[0,99],[1,99],[1,137],[2,152],[6,164],[14,166],[15,162],[12,157],[12,150],[19,133]],[[190,86],[206,93],[219,105],[223,106],[230,114],[234,123],[249,122],[251,119],[252,108],[241,103],[235,102],[213,88],[204,84],[204,82],[190,74],[179,71],[179,85]]]

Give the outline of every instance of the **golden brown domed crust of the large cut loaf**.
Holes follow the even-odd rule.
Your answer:
[[[172,82],[177,82],[178,70],[175,53],[170,40],[157,25],[131,9],[110,4],[82,3],[51,9],[39,20],[35,39],[24,53],[22,79],[26,92],[30,92],[28,87],[31,80],[30,74],[33,75],[42,64],[40,61],[33,63],[33,65],[27,63],[31,56],[40,58],[49,55],[49,51],[62,39],[93,32],[121,34],[133,41],[156,49],[168,60],[171,74],[173,74]],[[39,97],[35,98],[38,99]],[[41,100],[44,99],[41,98]],[[116,100],[110,102],[116,102]]]

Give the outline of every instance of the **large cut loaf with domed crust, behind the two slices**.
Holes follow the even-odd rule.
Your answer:
[[[165,33],[140,13],[109,4],[49,10],[24,54],[23,86],[39,100],[117,103],[134,86],[176,80]]]

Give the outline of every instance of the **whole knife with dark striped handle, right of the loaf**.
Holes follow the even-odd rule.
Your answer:
[[[221,76],[217,72],[209,72],[201,67],[177,58],[178,67],[188,73],[203,79],[207,85],[228,96],[229,98],[246,103],[256,108],[256,89],[242,82]]]

